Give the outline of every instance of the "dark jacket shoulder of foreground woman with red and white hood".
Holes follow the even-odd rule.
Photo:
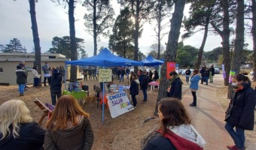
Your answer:
[[[151,139],[148,139],[143,150],[175,150],[169,139],[163,137],[160,133],[156,133]]]

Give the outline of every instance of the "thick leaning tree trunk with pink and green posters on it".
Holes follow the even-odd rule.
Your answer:
[[[166,53],[164,58],[164,63],[161,67],[161,77],[160,77],[160,86],[159,92],[157,96],[157,103],[162,99],[166,98],[166,89],[168,89],[168,85],[166,81],[166,65],[167,62],[175,62],[177,49],[178,49],[178,37],[181,30],[181,22],[183,17],[183,11],[185,6],[185,0],[177,0],[175,1],[175,10],[172,13],[171,20],[171,28],[168,37],[168,43],[166,46]],[[167,73],[169,74],[169,73]],[[154,115],[157,115],[158,112],[158,104],[156,104]]]

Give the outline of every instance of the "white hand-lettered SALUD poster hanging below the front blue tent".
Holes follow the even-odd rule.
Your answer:
[[[112,118],[134,110],[133,105],[129,101],[125,92],[118,93],[116,95],[107,95],[107,99]]]

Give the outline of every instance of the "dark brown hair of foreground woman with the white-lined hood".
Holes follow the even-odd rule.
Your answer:
[[[160,127],[162,135],[164,135],[169,126],[174,127],[181,124],[191,124],[191,119],[187,111],[177,98],[163,98],[158,102],[158,108],[163,113]]]

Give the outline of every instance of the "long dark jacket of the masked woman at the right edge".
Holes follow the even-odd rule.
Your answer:
[[[225,121],[245,130],[253,130],[256,92],[250,84],[242,83],[242,85],[244,89],[233,92],[230,105],[226,111]]]

